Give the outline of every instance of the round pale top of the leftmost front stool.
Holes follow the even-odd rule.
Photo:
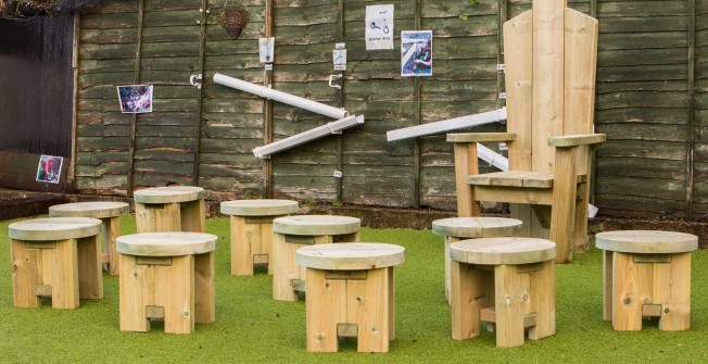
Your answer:
[[[100,219],[90,217],[34,218],[10,224],[10,238],[49,241],[86,238],[101,233]]]

